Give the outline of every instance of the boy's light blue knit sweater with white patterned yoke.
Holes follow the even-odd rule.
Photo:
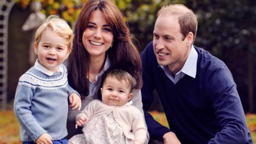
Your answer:
[[[22,141],[36,141],[43,133],[52,140],[66,137],[68,95],[77,93],[68,85],[67,69],[52,76],[30,68],[19,79],[14,112],[21,125]],[[78,93],[77,93],[78,94]]]

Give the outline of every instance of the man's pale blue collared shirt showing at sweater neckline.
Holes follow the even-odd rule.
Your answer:
[[[197,58],[198,58],[198,54],[195,50],[195,47],[191,45],[191,49],[184,66],[181,68],[181,70],[177,74],[175,74],[174,77],[172,76],[171,70],[168,68],[168,66],[160,65],[160,67],[164,70],[165,75],[168,78],[170,78],[174,84],[176,84],[185,75],[196,78]]]

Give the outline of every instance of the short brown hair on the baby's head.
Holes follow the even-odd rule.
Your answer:
[[[115,77],[118,79],[118,81],[124,80],[124,81],[128,82],[130,85],[131,91],[134,87],[134,78],[127,71],[124,71],[122,69],[113,69],[113,70],[108,71],[108,73],[103,78],[102,85],[105,83],[105,80],[107,77]]]

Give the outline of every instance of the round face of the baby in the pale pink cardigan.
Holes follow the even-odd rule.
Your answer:
[[[100,90],[103,103],[110,106],[124,106],[132,98],[130,84],[115,77],[107,77]]]

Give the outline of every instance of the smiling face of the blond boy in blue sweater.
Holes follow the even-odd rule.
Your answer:
[[[43,31],[40,42],[34,44],[34,50],[39,63],[53,73],[71,52],[67,47],[67,39],[55,34],[51,28]]]

